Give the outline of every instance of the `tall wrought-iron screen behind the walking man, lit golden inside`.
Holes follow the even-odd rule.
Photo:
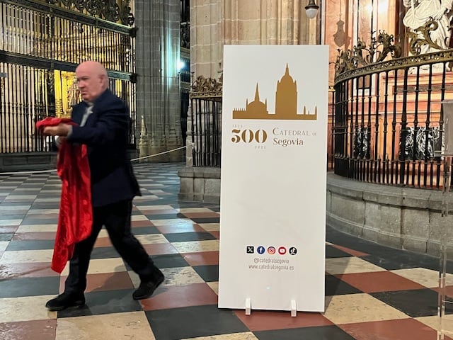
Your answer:
[[[35,122],[69,115],[80,99],[74,70],[84,60],[98,60],[108,69],[110,89],[129,106],[134,147],[135,29],[103,19],[120,21],[127,8],[112,1],[88,1],[102,6],[73,11],[62,7],[73,1],[46,2],[0,0],[0,154],[49,149]],[[132,23],[129,14],[127,22]]]

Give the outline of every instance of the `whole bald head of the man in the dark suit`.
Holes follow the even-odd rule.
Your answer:
[[[82,62],[76,68],[76,77],[84,101],[93,102],[108,89],[107,71],[99,62]]]

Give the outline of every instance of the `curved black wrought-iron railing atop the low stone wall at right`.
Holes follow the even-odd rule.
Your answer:
[[[338,72],[333,168],[359,181],[441,188],[441,102],[453,98],[453,50]]]

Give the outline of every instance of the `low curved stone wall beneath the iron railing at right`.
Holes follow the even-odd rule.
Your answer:
[[[453,255],[453,211],[442,217],[442,191],[387,186],[327,177],[327,225],[369,241],[434,256],[440,239]]]

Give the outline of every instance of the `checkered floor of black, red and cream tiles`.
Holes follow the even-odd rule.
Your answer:
[[[44,305],[67,275],[50,270],[60,181],[55,173],[0,176],[0,339],[437,339],[439,261],[330,228],[326,312],[219,310],[219,205],[178,201],[181,166],[135,166],[143,196],[134,200],[133,231],[166,276],[154,296],[132,300],[138,278],[103,230],[86,306],[58,313]],[[453,296],[453,275],[447,283]],[[453,314],[444,326],[452,336]]]

